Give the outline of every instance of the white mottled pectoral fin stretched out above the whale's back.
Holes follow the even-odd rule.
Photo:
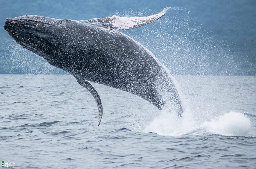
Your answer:
[[[149,23],[152,23],[155,20],[158,20],[164,16],[165,12],[160,12],[155,15],[148,17],[106,17],[106,18],[94,18],[88,20],[90,24],[108,28],[111,30],[126,30],[140,27]]]

